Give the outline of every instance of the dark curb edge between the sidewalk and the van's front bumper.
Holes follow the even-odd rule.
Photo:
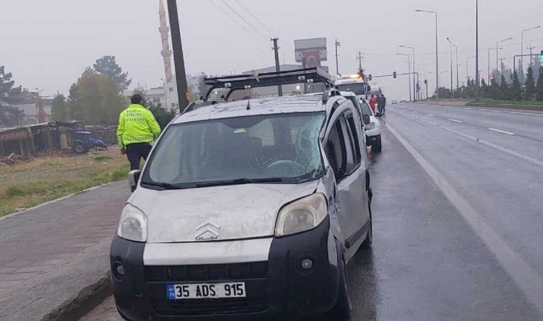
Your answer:
[[[108,270],[105,278],[84,287],[79,291],[77,297],[49,312],[40,321],[75,321],[84,317],[113,294],[110,275]]]

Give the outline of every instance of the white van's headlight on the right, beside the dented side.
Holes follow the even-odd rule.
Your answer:
[[[326,197],[315,193],[283,206],[277,217],[275,236],[286,236],[316,228],[328,215]]]

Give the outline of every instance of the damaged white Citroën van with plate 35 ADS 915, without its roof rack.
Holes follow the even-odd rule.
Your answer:
[[[359,115],[325,92],[176,117],[129,175],[110,251],[122,317],[348,318],[346,265],[372,243]]]

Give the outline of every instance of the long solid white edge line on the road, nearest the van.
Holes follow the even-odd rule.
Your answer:
[[[416,149],[403,139],[397,131],[387,124],[388,130],[392,133],[403,147],[413,156],[424,171],[432,178],[434,184],[441,188],[445,197],[458,210],[465,222],[481,238],[483,243],[494,254],[501,266],[507,271],[511,278],[520,287],[521,291],[531,301],[539,314],[543,316],[543,279],[534,269],[522,259],[520,255],[508,246],[508,244],[485,222],[480,215],[454,188],[446,181],[445,177],[435,169]]]

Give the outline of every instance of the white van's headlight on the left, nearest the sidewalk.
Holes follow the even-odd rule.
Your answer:
[[[127,204],[121,213],[117,235],[129,241],[147,241],[147,217],[137,207]]]

